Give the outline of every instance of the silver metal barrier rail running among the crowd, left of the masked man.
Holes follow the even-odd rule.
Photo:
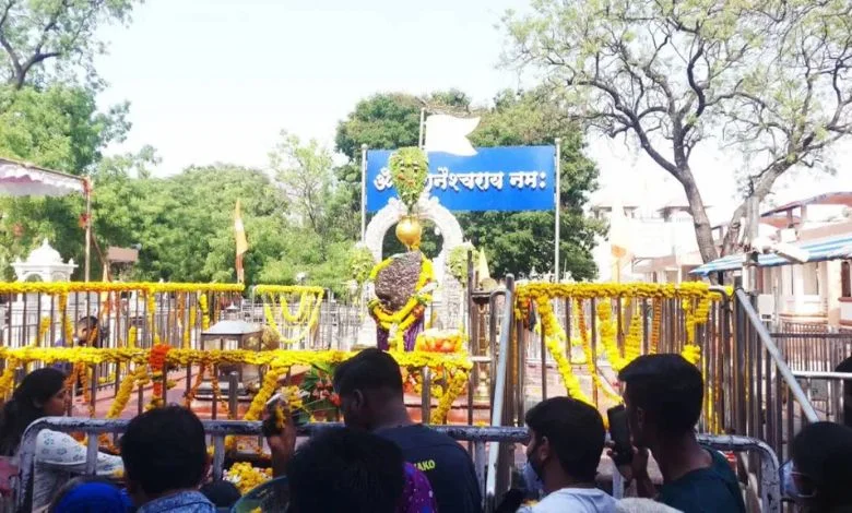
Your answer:
[[[32,510],[32,489],[35,475],[36,439],[44,429],[62,432],[83,432],[88,437],[86,445],[85,474],[95,474],[97,464],[98,434],[123,433],[130,420],[116,419],[85,419],[73,417],[45,417],[36,420],[24,432],[20,453],[20,479],[15,487],[16,511],[29,512]],[[225,465],[225,437],[258,437],[261,434],[261,422],[245,420],[202,420],[204,432],[210,437],[213,445],[213,478],[220,479],[224,474]],[[313,433],[340,426],[338,423],[308,423],[299,427],[299,436],[312,436]],[[524,428],[510,427],[477,427],[477,426],[431,426],[439,432],[448,434],[458,441],[468,441],[473,444],[471,457],[474,462],[480,490],[485,488],[485,457],[486,443],[525,443],[529,436]]]

